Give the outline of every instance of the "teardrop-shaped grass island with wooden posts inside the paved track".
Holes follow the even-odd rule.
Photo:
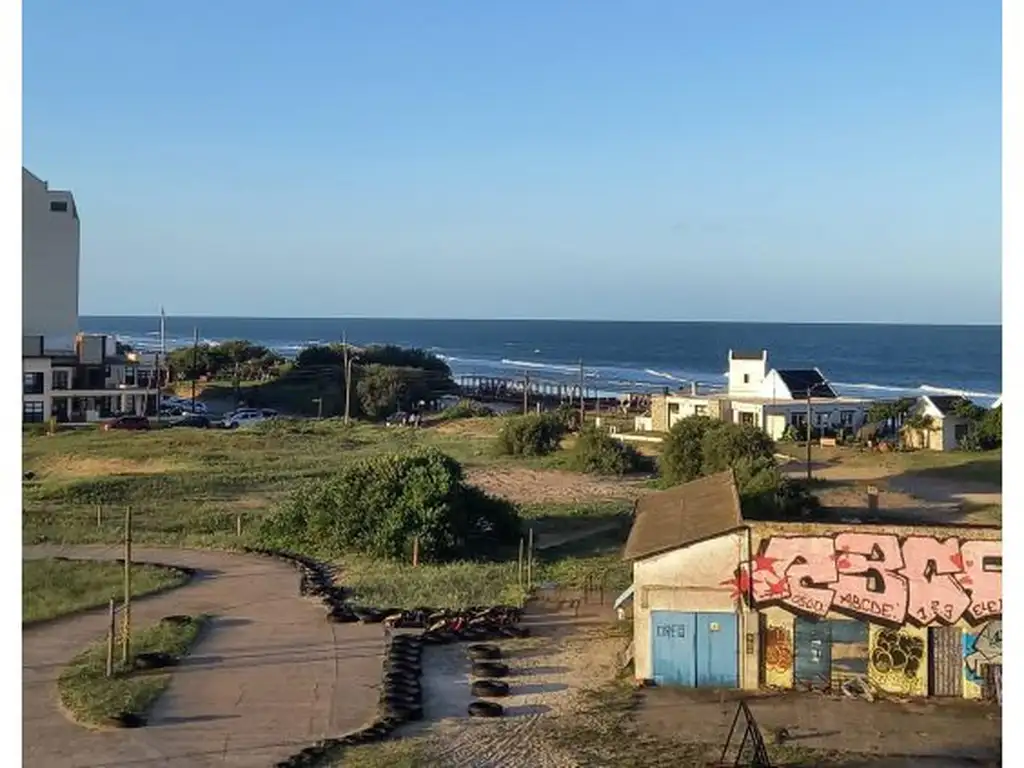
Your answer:
[[[199,615],[180,622],[162,621],[133,631],[131,665],[119,665],[113,677],[106,677],[105,641],[89,647],[57,679],[60,703],[83,724],[117,726],[131,719],[144,722],[146,713],[171,681],[173,664],[187,655],[207,618]],[[172,666],[140,670],[136,659],[143,653],[166,654]]]

